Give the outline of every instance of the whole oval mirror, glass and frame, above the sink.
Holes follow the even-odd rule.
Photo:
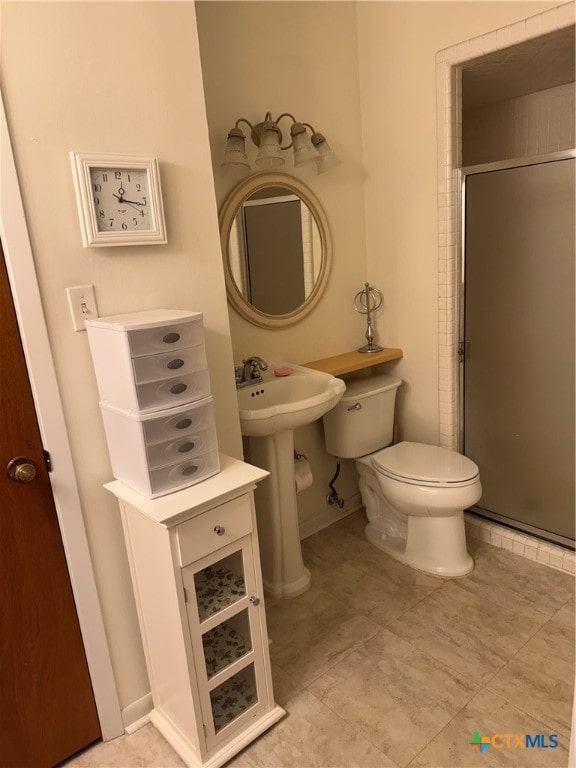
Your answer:
[[[228,300],[263,328],[292,325],[316,305],[328,281],[332,241],[314,194],[284,173],[242,181],[220,211]]]

